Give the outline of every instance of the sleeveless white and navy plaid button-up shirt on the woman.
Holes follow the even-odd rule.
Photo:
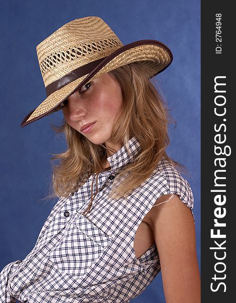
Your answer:
[[[107,160],[111,170],[94,175],[69,197],[61,197],[45,221],[33,250],[0,274],[1,302],[129,302],[160,271],[156,245],[135,256],[135,233],[161,194],[176,193],[193,215],[190,185],[166,160],[128,197],[108,194],[119,170],[133,161],[140,143],[133,137]],[[129,151],[128,151],[129,150]],[[91,212],[83,216],[98,193]]]

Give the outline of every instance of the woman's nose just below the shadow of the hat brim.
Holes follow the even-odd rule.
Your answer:
[[[77,122],[86,115],[86,110],[81,100],[74,94],[68,97],[68,115],[72,122]]]

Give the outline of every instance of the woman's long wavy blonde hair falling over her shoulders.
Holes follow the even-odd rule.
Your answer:
[[[141,150],[135,160],[119,172],[129,174],[129,182],[123,182],[111,191],[114,198],[128,194],[149,178],[161,159],[175,167],[183,166],[166,154],[169,144],[167,127],[170,116],[167,106],[150,81],[149,73],[142,63],[131,63],[109,73],[121,86],[123,108],[113,124],[112,142],[126,145],[133,136],[140,142]],[[68,148],[65,153],[53,155],[52,187],[57,196],[68,196],[78,190],[93,173],[102,171],[106,160],[106,149],[89,141],[73,129],[66,121],[53,126],[57,133],[64,133]]]

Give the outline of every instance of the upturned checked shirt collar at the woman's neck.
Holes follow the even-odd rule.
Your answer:
[[[127,145],[123,145],[114,155],[107,158],[111,170],[116,170],[132,162],[141,150],[140,143],[136,137],[131,138]]]

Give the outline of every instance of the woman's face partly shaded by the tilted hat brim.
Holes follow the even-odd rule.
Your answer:
[[[94,144],[112,145],[112,127],[123,107],[123,99],[120,85],[108,73],[70,95],[62,107],[71,127]]]

